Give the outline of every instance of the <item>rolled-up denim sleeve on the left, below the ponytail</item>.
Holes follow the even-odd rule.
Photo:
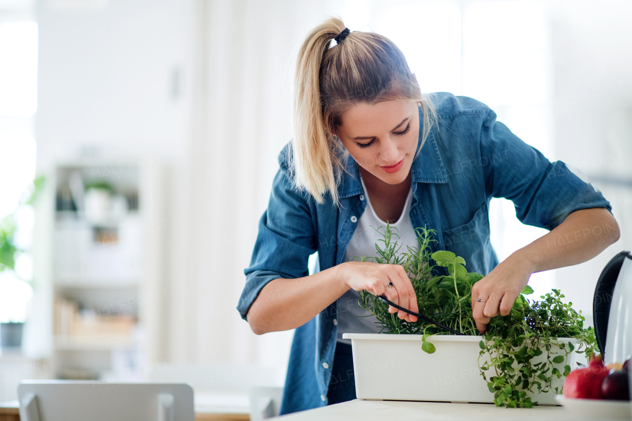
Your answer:
[[[244,320],[270,281],[308,275],[307,260],[317,248],[307,193],[297,192],[283,169],[274,178],[268,209],[259,221],[246,285],[237,305]],[[270,297],[274,298],[274,297]]]

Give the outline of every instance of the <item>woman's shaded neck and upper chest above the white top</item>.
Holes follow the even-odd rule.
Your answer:
[[[412,180],[410,172],[406,180],[399,184],[384,183],[362,167],[360,167],[360,176],[362,176],[362,181],[367,188],[367,195],[375,214],[382,221],[391,224],[398,221],[406,205],[408,192],[410,192]]]

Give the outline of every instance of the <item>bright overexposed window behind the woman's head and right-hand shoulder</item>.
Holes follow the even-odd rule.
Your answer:
[[[549,44],[544,10],[536,1],[389,4],[376,16],[375,31],[404,52],[423,92],[484,102],[498,121],[554,159]],[[492,198],[490,226],[501,261],[547,233],[520,223],[513,203],[504,198]],[[532,275],[535,295],[550,290],[552,277],[550,271]]]

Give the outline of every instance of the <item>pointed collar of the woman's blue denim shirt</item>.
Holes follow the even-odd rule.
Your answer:
[[[420,133],[421,137],[422,133]],[[419,139],[421,144],[421,138]],[[345,164],[346,172],[343,173],[338,185],[338,197],[345,198],[359,195],[364,192],[360,181],[358,163],[348,156]],[[435,127],[430,130],[422,150],[417,154],[410,168],[412,182],[414,183],[447,183],[446,166],[444,166],[439,154],[439,147],[435,139]]]

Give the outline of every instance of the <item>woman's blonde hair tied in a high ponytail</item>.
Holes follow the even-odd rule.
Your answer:
[[[333,133],[349,107],[394,99],[418,102],[423,111],[422,145],[436,118],[432,102],[422,95],[404,54],[391,40],[354,31],[330,48],[344,29],[339,18],[313,28],[296,63],[291,174],[296,187],[320,204],[327,191],[339,204],[337,185],[347,155]]]

